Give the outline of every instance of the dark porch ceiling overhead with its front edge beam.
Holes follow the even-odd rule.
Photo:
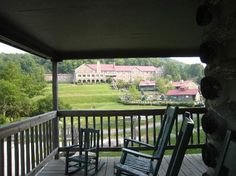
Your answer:
[[[198,56],[199,0],[2,0],[0,41],[45,58]]]

